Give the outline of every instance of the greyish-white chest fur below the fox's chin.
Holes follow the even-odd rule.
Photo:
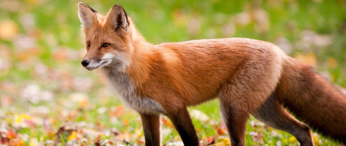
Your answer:
[[[110,65],[100,68],[108,86],[118,93],[122,103],[139,113],[164,113],[155,100],[137,96],[136,89],[124,68],[124,62],[119,59],[113,59]]]

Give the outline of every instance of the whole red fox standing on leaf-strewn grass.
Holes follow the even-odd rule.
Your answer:
[[[88,51],[82,65],[99,69],[139,113],[146,146],[162,145],[160,114],[171,119],[185,146],[198,146],[186,107],[214,98],[232,146],[245,146],[249,114],[302,146],[314,145],[309,126],[346,144],[345,94],[272,43],[225,38],[153,45],[119,4],[103,16],[79,3],[79,18]]]

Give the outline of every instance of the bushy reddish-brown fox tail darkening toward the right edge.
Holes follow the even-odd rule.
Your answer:
[[[293,58],[288,58],[276,88],[276,99],[313,130],[346,144],[344,89]]]

